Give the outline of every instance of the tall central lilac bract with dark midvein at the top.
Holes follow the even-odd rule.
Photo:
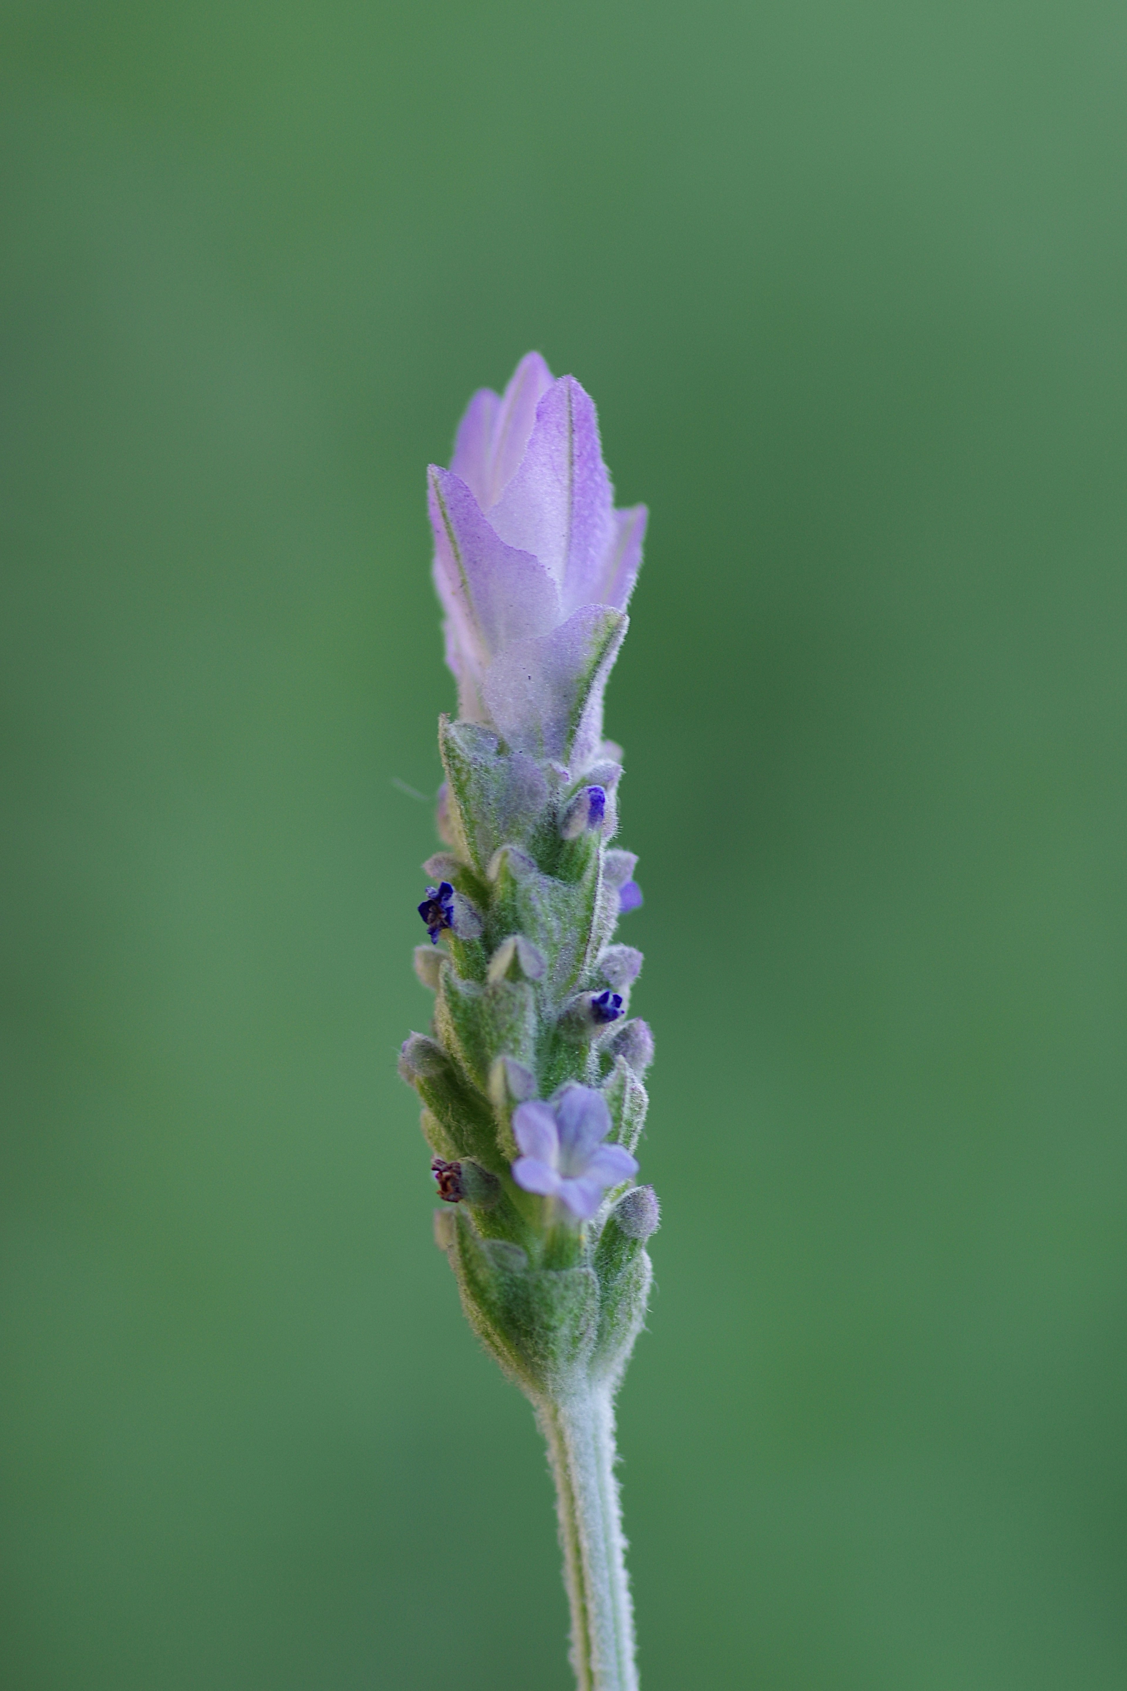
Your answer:
[[[613,492],[590,396],[561,375],[536,408],[527,448],[490,521],[551,572],[563,614],[598,602],[613,545]]]

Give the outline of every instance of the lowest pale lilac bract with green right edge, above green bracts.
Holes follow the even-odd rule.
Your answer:
[[[627,617],[581,605],[551,634],[509,646],[482,676],[482,703],[515,751],[585,768],[603,732],[603,692]]]

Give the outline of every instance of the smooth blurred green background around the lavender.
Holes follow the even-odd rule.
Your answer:
[[[431,1241],[424,465],[651,545],[647,1691],[1127,1679],[1127,17],[10,0],[12,1691],[566,1691]]]

